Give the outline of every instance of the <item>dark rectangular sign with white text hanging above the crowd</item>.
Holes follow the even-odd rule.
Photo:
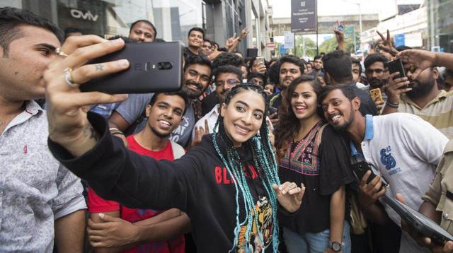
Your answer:
[[[316,31],[316,0],[291,0],[291,31],[313,33]]]

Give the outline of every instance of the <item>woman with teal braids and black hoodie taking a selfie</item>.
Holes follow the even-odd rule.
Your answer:
[[[127,60],[86,64],[123,46],[122,40],[92,35],[69,38],[59,49],[64,54],[50,63],[49,148],[57,160],[105,199],[187,213],[198,252],[277,252],[277,209],[283,216],[298,211],[304,187],[280,184],[263,90],[253,84],[233,88],[220,107],[217,134],[174,162],[157,161],[127,150],[103,117],[86,113],[87,105],[126,95],[79,91],[91,78],[129,67]]]

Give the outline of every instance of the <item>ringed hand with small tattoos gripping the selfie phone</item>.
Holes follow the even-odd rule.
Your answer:
[[[67,148],[72,155],[84,154],[98,141],[98,133],[86,119],[88,106],[120,102],[127,98],[127,95],[100,92],[81,93],[79,85],[92,78],[127,69],[129,61],[122,59],[101,64],[86,63],[120,50],[124,43],[121,39],[110,41],[95,35],[71,36],[44,73],[49,137]]]

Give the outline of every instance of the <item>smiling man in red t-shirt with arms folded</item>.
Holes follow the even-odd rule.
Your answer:
[[[168,136],[180,124],[184,108],[185,98],[180,93],[156,93],[147,105],[146,127],[127,137],[129,148],[156,160],[180,158],[183,148]],[[88,189],[88,211],[91,215],[88,238],[96,252],[185,250],[183,234],[190,231],[190,219],[176,208],[167,211],[127,208]]]

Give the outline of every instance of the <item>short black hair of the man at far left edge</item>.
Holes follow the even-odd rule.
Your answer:
[[[21,10],[13,7],[0,8],[0,47],[3,48],[4,57],[8,57],[9,45],[13,40],[18,40],[24,36],[20,25],[33,25],[52,32],[60,43],[64,40],[61,29],[46,18],[36,15],[30,11]]]

